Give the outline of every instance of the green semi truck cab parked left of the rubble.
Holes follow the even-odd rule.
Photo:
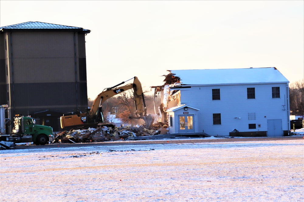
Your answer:
[[[16,115],[12,134],[0,134],[0,141],[14,143],[33,142],[36,145],[44,145],[53,140],[53,128],[36,125],[35,119],[30,116]]]

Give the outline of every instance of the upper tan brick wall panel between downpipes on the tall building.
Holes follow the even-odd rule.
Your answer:
[[[15,83],[75,81],[74,32],[13,32],[12,45]]]

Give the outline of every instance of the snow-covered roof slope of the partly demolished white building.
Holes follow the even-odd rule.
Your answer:
[[[181,84],[243,84],[243,83],[289,83],[275,67],[241,69],[191,69],[168,70],[181,78]]]

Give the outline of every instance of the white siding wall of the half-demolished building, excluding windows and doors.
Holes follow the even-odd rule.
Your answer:
[[[280,87],[280,98],[272,98],[271,87]],[[214,88],[220,89],[221,100],[212,101]],[[255,88],[255,99],[247,99],[247,88]],[[199,124],[196,132],[204,130],[209,135],[229,135],[233,129],[240,132],[268,131],[269,119],[282,119],[282,130],[288,131],[287,98],[287,83],[192,86],[181,89],[181,104],[200,109],[197,111]],[[221,114],[221,125],[213,125],[214,113]],[[248,120],[248,113],[255,113],[255,120]],[[257,124],[257,128],[248,129],[248,124]]]

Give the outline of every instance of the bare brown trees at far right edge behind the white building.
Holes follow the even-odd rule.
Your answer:
[[[290,84],[289,104],[291,115],[304,114],[304,79]]]

